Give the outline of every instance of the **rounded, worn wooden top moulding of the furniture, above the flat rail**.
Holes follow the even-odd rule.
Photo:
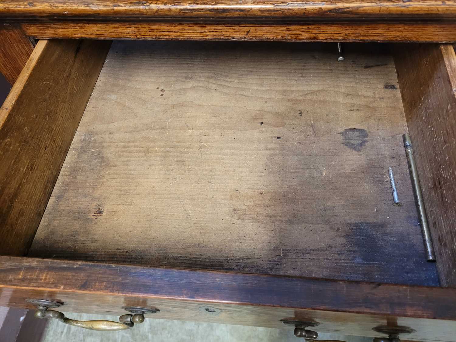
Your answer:
[[[297,18],[451,20],[456,1],[440,0],[9,0],[0,2],[0,18],[10,19],[153,19],[153,18]]]

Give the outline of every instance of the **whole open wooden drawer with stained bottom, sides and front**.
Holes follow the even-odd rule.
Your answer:
[[[454,50],[332,48],[40,41],[0,112],[0,304],[456,341]]]

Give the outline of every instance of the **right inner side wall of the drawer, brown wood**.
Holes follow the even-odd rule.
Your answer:
[[[395,58],[442,286],[456,287],[456,56],[413,45]]]

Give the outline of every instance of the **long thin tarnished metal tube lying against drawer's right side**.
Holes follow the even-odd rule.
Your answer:
[[[426,208],[423,201],[423,193],[421,192],[420,179],[418,171],[416,170],[415,157],[413,156],[413,147],[410,141],[410,136],[405,133],[402,138],[404,139],[405,154],[409,162],[410,177],[412,179],[413,191],[416,197],[416,207],[418,209],[418,217],[420,219],[421,231],[423,233],[423,240],[426,248],[426,257],[429,262],[435,261],[434,247],[432,247],[432,238],[430,236],[429,224],[426,217]]]

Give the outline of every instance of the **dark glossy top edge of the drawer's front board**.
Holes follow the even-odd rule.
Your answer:
[[[85,261],[1,256],[1,288],[88,291],[456,321],[456,289],[451,288]]]

